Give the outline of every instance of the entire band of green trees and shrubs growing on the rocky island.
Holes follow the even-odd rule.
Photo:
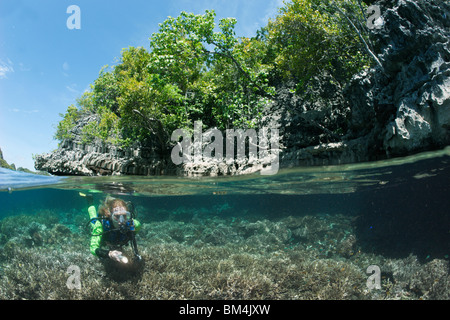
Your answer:
[[[255,127],[283,84],[294,83],[299,96],[318,77],[344,87],[376,62],[366,7],[360,0],[285,1],[251,38],[236,37],[234,18],[216,24],[213,10],[168,17],[148,49],[123,49],[117,65],[100,71],[61,114],[55,139],[73,138],[77,121],[89,115],[83,143],[122,147],[154,141],[166,148],[173,130],[197,120],[221,130]]]

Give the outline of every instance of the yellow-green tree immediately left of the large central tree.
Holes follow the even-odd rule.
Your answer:
[[[121,64],[114,69],[119,127],[125,141],[145,142],[154,137],[165,149],[169,132],[183,126],[186,115],[179,87],[163,75],[151,73],[154,60],[154,54],[144,48],[123,51]]]

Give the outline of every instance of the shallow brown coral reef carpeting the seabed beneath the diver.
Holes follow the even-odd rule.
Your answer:
[[[348,216],[157,215],[141,214],[144,262],[125,267],[89,253],[80,212],[4,218],[0,298],[449,299],[447,260],[363,252]],[[370,265],[380,289],[367,285]],[[71,266],[79,289],[68,286]]]

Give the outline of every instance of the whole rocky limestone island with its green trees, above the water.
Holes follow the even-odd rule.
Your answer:
[[[450,144],[450,4],[287,1],[256,32],[233,18],[182,12],[150,48],[104,67],[35,156],[56,175],[211,176],[261,171],[250,161],[174,164],[178,129],[278,130],[280,167],[374,161]],[[212,139],[211,139],[212,141]],[[203,144],[200,148],[205,148]],[[209,150],[209,149],[208,149]],[[261,151],[262,150],[262,151]],[[214,149],[214,156],[225,149]]]

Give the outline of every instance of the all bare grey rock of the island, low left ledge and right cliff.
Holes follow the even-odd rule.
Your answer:
[[[450,144],[450,4],[377,4],[384,26],[373,32],[382,66],[355,76],[347,88],[318,101],[313,116],[302,113],[304,105],[288,85],[279,88],[276,101],[266,107],[262,125],[279,130],[280,168],[373,161]],[[339,136],[311,118],[341,104],[346,113],[336,115],[334,123],[342,122],[345,128]],[[62,141],[56,151],[37,155],[35,168],[55,175],[195,176],[258,172],[270,163],[261,157],[231,164],[203,159],[175,165],[170,153],[152,147],[121,149],[100,141],[84,145],[80,126],[75,130],[75,138]]]

